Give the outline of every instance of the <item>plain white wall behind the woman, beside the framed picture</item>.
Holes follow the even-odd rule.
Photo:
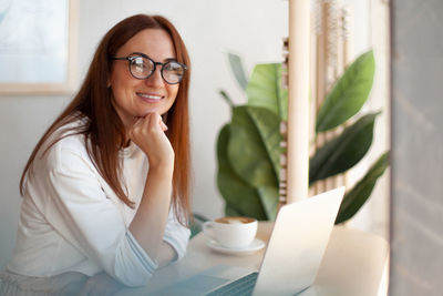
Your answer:
[[[348,1],[352,2],[352,1]],[[358,1],[360,2],[360,1]],[[230,111],[217,94],[227,90],[237,103],[245,102],[233,80],[225,51],[239,53],[249,72],[255,63],[281,61],[281,39],[288,33],[284,0],[79,0],[79,80],[87,70],[102,35],[117,21],[134,13],[159,13],[169,18],[188,47],[192,144],[194,160],[194,211],[208,217],[223,214],[216,188],[215,143]],[[369,45],[367,6],[356,11],[362,31],[356,51]],[[66,96],[0,98],[0,268],[11,254],[19,213],[19,177],[35,142],[69,102]]]

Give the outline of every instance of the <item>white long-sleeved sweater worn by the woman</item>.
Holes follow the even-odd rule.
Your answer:
[[[64,272],[92,276],[105,271],[125,285],[144,285],[157,263],[138,245],[128,225],[141,202],[147,157],[135,144],[120,152],[123,182],[136,204],[133,210],[100,175],[83,139],[69,135],[37,155],[27,177],[16,247],[7,268],[29,276]],[[184,256],[188,238],[189,229],[171,211],[164,241],[175,249],[175,261]]]

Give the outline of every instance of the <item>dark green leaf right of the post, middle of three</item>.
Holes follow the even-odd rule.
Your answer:
[[[362,116],[316,152],[309,162],[309,184],[342,173],[364,156],[372,144],[378,114]]]

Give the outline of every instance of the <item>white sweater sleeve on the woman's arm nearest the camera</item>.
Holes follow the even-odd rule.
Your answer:
[[[49,223],[87,259],[127,286],[145,285],[157,263],[125,226],[119,207],[103,192],[91,163],[59,150],[45,178]]]

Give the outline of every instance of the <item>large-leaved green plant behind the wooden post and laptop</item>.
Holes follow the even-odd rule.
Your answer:
[[[282,152],[279,126],[288,114],[288,93],[280,86],[281,64],[257,64],[247,80],[240,58],[228,53],[228,59],[247,103],[235,105],[226,91],[219,92],[231,106],[231,121],[222,127],[217,140],[218,190],[226,202],[226,215],[275,220]],[[324,99],[317,114],[316,135],[339,126],[342,131],[310,159],[310,185],[348,171],[367,154],[380,112],[357,114],[368,100],[373,75],[374,57],[369,51],[344,71]],[[388,166],[385,152],[346,193],[336,223],[360,210]]]

